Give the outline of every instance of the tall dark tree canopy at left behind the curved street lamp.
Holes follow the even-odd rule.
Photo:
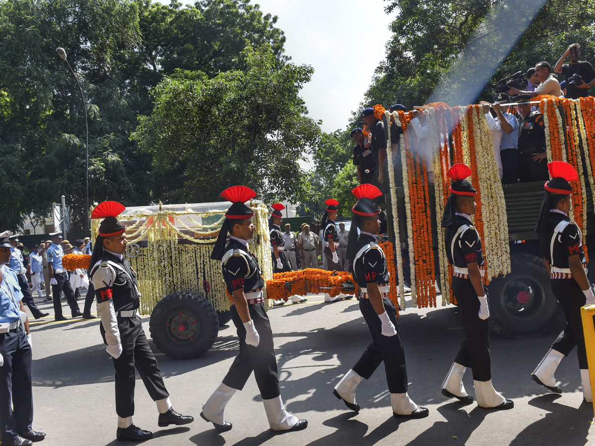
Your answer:
[[[0,228],[49,213],[62,194],[74,224],[85,213],[83,102],[57,46],[85,96],[90,202],[143,205],[163,196],[151,153],[130,139],[151,89],[177,69],[246,70],[246,48],[267,48],[280,70],[289,58],[276,21],[249,0],[0,0]]]

